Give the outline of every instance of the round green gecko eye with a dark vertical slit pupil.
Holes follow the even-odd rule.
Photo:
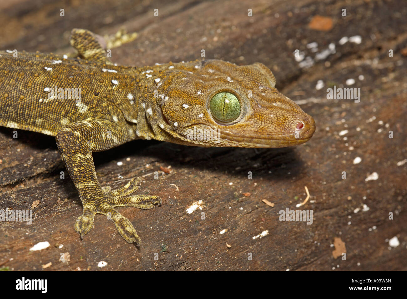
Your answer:
[[[230,92],[219,92],[210,100],[210,113],[221,122],[231,122],[240,115],[240,102]]]

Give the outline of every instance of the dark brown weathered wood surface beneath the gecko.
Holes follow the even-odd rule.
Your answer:
[[[61,8],[65,17],[59,16]],[[74,27],[105,35],[124,26],[139,35],[113,49],[118,64],[195,60],[201,49],[206,58],[264,63],[279,91],[298,101],[317,124],[313,138],[294,148],[199,148],[136,140],[94,154],[102,186],[116,188],[146,175],[139,193],[163,199],[154,210],[118,209],[142,238],[139,249],[103,215],[96,215],[94,229],[81,240],[73,229],[81,202],[70,178],[59,178],[66,170],[55,139],[22,130],[13,139],[13,129],[0,128],[0,208],[27,210],[39,201],[32,225],[0,223],[1,267],[42,271],[52,262],[44,271],[407,270],[407,163],[397,164],[407,158],[405,2],[14,0],[1,2],[0,10],[2,50],[65,53],[71,51],[68,36]],[[311,29],[311,21],[320,25],[316,15],[329,18],[332,28]],[[360,44],[339,44],[355,35]],[[317,52],[307,48],[312,42]],[[335,52],[316,60],[331,43]],[[304,68],[295,61],[296,49],[313,65]],[[354,85],[347,86],[347,79]],[[318,80],[324,82],[319,90]],[[327,99],[332,85],[361,88],[360,103]],[[348,133],[339,135],[344,130]],[[356,157],[359,164],[353,163]],[[149,175],[167,166],[171,173],[159,179]],[[379,178],[366,181],[372,172]],[[280,210],[296,210],[304,200],[304,186],[311,198],[300,209],[313,210],[313,224],[279,221]],[[188,214],[199,200],[202,210]],[[263,231],[268,234],[253,238]],[[389,246],[394,237],[397,247]],[[334,238],[345,242],[346,260],[334,258]],[[51,246],[29,251],[43,241]],[[69,261],[61,262],[61,253],[69,253]],[[98,267],[100,261],[107,265]]]

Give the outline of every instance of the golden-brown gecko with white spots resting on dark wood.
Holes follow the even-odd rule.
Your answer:
[[[277,148],[302,144],[315,131],[313,118],[278,92],[262,63],[201,59],[138,68],[113,64],[91,31],[73,29],[70,44],[75,57],[0,52],[0,126],[55,136],[83,205],[74,224],[81,239],[94,227],[95,214],[103,214],[124,240],[139,246],[133,224],[115,207],[162,203],[159,196],[133,195],[139,177],[116,190],[102,187],[93,152],[136,139]],[[216,134],[202,138],[201,132]]]

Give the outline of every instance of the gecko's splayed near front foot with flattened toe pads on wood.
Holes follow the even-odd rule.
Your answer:
[[[119,234],[129,243],[141,244],[141,239],[137,235],[131,222],[117,212],[114,207],[138,207],[139,209],[152,209],[161,205],[159,196],[154,195],[133,195],[129,194],[138,190],[141,183],[139,177],[131,179],[124,187],[111,190],[109,187],[103,188],[105,194],[97,199],[83,201],[83,214],[75,222],[75,231],[81,234],[81,238],[88,234],[94,226],[96,214],[103,214],[111,219]]]

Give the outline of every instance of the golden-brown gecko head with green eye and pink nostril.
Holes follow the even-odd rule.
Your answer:
[[[168,140],[198,146],[274,148],[302,144],[311,116],[274,87],[261,63],[220,60],[177,63],[168,70],[160,127]]]

